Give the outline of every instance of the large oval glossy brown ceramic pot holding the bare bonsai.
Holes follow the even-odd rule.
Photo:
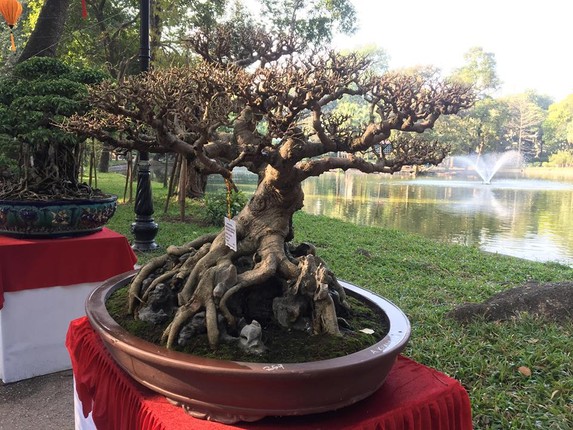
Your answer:
[[[370,348],[294,364],[193,356],[137,338],[111,318],[105,307],[107,298],[134,273],[109,279],[89,296],[86,313],[90,323],[129,375],[198,418],[234,423],[326,412],[353,404],[380,388],[410,336],[410,323],[394,304],[342,282],[349,295],[378,307],[388,319],[388,334]]]

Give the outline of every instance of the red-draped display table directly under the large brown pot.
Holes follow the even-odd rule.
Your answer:
[[[66,346],[76,387],[76,429],[472,429],[469,398],[460,383],[402,356],[382,388],[355,405],[232,426],[193,418],[137,383],[115,364],[86,317],[71,322]]]

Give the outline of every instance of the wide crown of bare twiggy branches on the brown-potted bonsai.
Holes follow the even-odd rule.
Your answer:
[[[268,163],[288,158],[302,180],[334,168],[391,173],[406,164],[438,163],[445,149],[437,143],[408,140],[389,154],[380,146],[392,130],[421,133],[440,115],[473,103],[470,87],[440,81],[434,72],[377,76],[367,73],[369,61],[355,54],[292,55],[277,62],[271,58],[277,45],[269,46],[260,54],[270,55],[269,62],[253,72],[236,61],[228,64],[234,58],[231,46],[206,42],[205,60],[198,65],[101,84],[91,92],[96,110],[67,127],[116,147],[200,158],[211,173],[226,178],[237,165],[260,174]],[[289,51],[289,45],[281,46],[281,52]],[[345,115],[328,112],[345,95],[363,97],[369,123],[357,127]],[[265,134],[257,131],[260,125]],[[233,135],[224,137],[222,127],[232,127]],[[331,152],[349,156],[325,157]],[[364,161],[368,152],[376,154],[375,162]]]

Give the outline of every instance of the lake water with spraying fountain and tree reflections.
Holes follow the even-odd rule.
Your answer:
[[[254,176],[235,179],[246,192],[254,189]],[[311,214],[573,265],[572,183],[339,172],[307,179],[303,190],[303,210]]]

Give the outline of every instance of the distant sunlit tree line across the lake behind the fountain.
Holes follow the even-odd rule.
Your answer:
[[[534,90],[494,98],[501,85],[494,55],[476,47],[464,60],[451,78],[473,84],[481,96],[460,115],[440,118],[427,139],[447,143],[452,155],[515,150],[528,162],[573,165],[573,94],[560,101]],[[434,72],[426,68],[426,73]],[[336,110],[356,123],[371,115],[352,98],[341,101]]]

